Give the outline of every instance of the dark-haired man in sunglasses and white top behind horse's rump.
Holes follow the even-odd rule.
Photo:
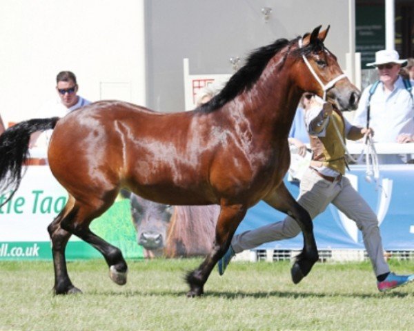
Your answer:
[[[58,97],[45,103],[37,112],[37,118],[46,119],[49,117],[64,117],[69,112],[86,106],[90,101],[83,99],[77,94],[79,86],[76,76],[70,71],[61,71],[56,77],[56,92]],[[30,138],[30,147],[48,145],[52,130],[34,132]],[[42,137],[43,139],[39,139]],[[41,143],[38,143],[38,140]]]

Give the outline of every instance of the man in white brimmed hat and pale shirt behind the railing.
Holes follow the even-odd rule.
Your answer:
[[[395,50],[375,53],[375,62],[366,66],[377,68],[379,81],[362,92],[353,124],[373,128],[378,143],[414,142],[414,94],[409,80],[400,76],[407,60]],[[379,155],[380,163],[404,163],[411,155]]]

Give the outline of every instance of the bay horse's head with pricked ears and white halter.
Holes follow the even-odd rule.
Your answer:
[[[318,26],[298,41],[300,74],[297,77],[300,78],[297,85],[330,101],[339,110],[354,110],[360,92],[342,72],[335,55],[324,46],[329,26],[322,32],[320,28]]]

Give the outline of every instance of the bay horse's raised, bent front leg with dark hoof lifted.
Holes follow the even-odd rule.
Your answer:
[[[295,219],[303,232],[304,248],[295,258],[295,263],[291,270],[293,283],[297,284],[311,271],[313,265],[319,259],[315,237],[313,235],[312,219],[309,213],[293,199],[283,182],[264,201],[273,208]]]

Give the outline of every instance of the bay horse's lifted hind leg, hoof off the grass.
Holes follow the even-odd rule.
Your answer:
[[[77,213],[75,217],[63,219],[61,227],[83,239],[83,241],[86,241],[101,252],[106,263],[108,263],[110,279],[118,285],[124,285],[126,283],[128,266],[122,256],[121,250],[98,237],[89,228],[92,220],[99,217],[112,205],[116,194],[110,194],[110,197],[106,197],[105,201],[90,198],[88,204],[76,201],[75,208],[77,209]]]

